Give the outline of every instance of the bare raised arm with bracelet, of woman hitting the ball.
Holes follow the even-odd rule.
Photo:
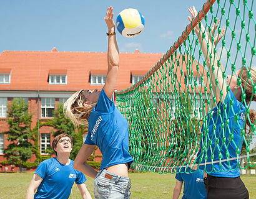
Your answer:
[[[113,21],[113,7],[107,7],[107,14],[104,18],[109,31],[109,41],[107,49],[107,76],[106,83],[104,85],[104,91],[111,99],[112,93],[116,87],[116,80],[119,68],[119,50],[116,42],[115,23]]]

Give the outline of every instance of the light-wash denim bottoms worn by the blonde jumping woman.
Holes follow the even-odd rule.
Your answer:
[[[130,198],[130,178],[102,169],[94,179],[95,199]]]

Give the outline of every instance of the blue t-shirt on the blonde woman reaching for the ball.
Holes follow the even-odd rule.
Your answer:
[[[88,134],[84,144],[97,145],[103,155],[101,169],[134,161],[129,154],[129,129],[126,118],[102,89],[97,105],[88,119]]]

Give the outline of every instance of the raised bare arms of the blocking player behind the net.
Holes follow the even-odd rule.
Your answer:
[[[197,11],[194,6],[192,8],[189,7],[189,12],[192,18],[197,17]],[[189,21],[191,22],[192,18],[191,17],[188,17],[188,18],[189,18]],[[220,21],[218,20],[217,23],[213,25],[212,29],[209,30],[209,33],[211,35],[214,35],[219,22]],[[227,95],[227,90],[226,90],[227,83],[222,76],[222,71],[220,70],[220,67],[222,69],[223,67],[220,62],[218,63],[218,60],[220,59],[219,59],[219,56],[217,55],[217,52],[215,52],[215,46],[218,44],[218,42],[224,35],[225,29],[222,29],[220,34],[217,34],[217,36],[214,38],[214,44],[213,44],[211,35],[209,36],[209,34],[204,28],[204,25],[201,24],[199,28],[199,25],[197,24],[195,26],[195,33],[198,36],[200,47],[204,54],[207,67],[209,68],[209,73],[211,76],[212,74],[215,75],[215,78],[213,78],[212,76],[212,91],[214,91],[214,96],[216,97],[216,103],[219,103],[220,99],[222,97],[223,99],[225,99],[225,96]]]

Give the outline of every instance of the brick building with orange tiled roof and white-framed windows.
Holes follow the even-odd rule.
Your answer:
[[[120,53],[117,90],[135,83],[163,56],[162,53]],[[6,51],[0,54],[0,162],[5,160],[4,149],[9,142],[6,123],[7,104],[13,98],[23,98],[29,104],[32,128],[39,121],[52,117],[57,104],[64,103],[77,90],[101,90],[106,79],[106,52],[59,52],[51,51]],[[51,126],[38,129],[41,155],[51,147]],[[84,134],[84,138],[86,134]],[[100,154],[99,150],[96,154]],[[33,155],[30,162],[34,162]],[[0,165],[0,172],[17,171],[18,168]]]

